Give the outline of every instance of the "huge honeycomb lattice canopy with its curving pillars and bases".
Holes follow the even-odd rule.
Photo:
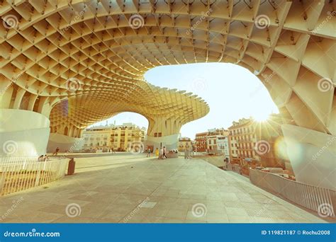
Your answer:
[[[125,111],[149,120],[147,142],[174,145],[181,126],[209,106],[143,75],[162,65],[228,62],[257,75],[281,115],[295,122],[283,127],[291,162],[303,168],[318,154],[316,179],[325,177],[335,168],[335,5],[1,1],[1,146],[14,141],[13,155],[43,154],[48,139],[71,146],[84,128]]]

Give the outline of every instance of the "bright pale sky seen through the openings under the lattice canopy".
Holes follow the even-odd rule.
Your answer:
[[[177,88],[201,96],[210,106],[210,113],[181,128],[183,137],[194,139],[196,132],[215,127],[228,128],[242,117],[262,120],[278,108],[267,89],[247,69],[235,64],[202,63],[162,66],[150,69],[145,79],[155,86]],[[108,123],[133,122],[148,126],[148,121],[136,113],[121,113],[108,119]],[[99,122],[105,124],[106,121]]]

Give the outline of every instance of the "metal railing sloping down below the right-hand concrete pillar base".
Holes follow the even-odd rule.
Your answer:
[[[281,175],[257,171],[250,168],[250,180],[259,188],[281,195],[291,202],[315,212],[321,212],[327,206],[330,217],[335,217],[336,191],[289,180]]]

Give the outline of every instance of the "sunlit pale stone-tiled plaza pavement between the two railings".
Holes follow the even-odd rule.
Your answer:
[[[1,222],[325,222],[202,159],[112,154],[75,161],[74,175],[1,197]]]

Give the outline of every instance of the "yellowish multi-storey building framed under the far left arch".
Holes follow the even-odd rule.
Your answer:
[[[83,133],[83,149],[86,151],[128,151],[133,144],[142,144],[145,141],[145,131],[145,127],[141,128],[132,123],[87,128]]]

